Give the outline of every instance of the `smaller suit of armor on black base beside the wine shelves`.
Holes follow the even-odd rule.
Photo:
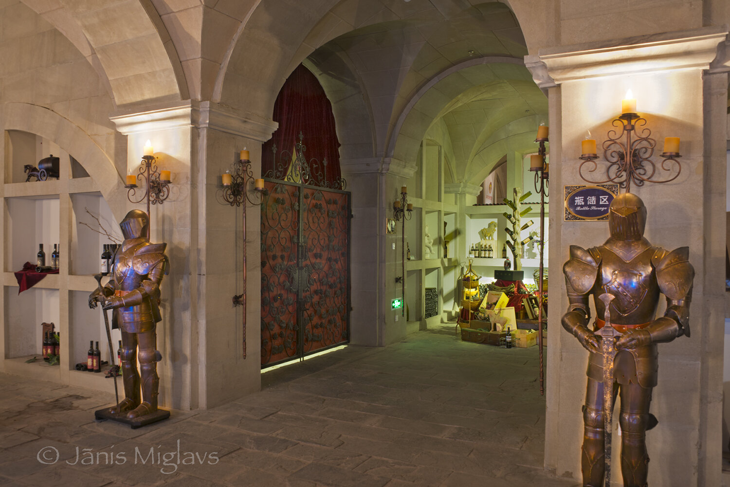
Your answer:
[[[124,235],[115,254],[112,279],[103,289],[93,291],[89,306],[103,303],[104,310],[114,310],[112,327],[122,334],[121,370],[125,398],[112,413],[126,413],[138,418],[157,410],[159,377],[155,326],[160,316],[160,282],[168,266],[165,243],[153,244],[147,238],[149,219],[141,210],[128,212],[120,227]],[[139,353],[137,352],[139,348]],[[140,372],[142,397],[140,399]]]

